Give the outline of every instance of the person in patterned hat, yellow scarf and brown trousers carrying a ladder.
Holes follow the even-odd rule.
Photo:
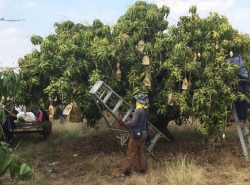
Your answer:
[[[131,121],[123,122],[119,121],[120,125],[133,128],[140,127],[142,134],[140,138],[135,138],[133,134],[130,134],[128,150],[127,150],[127,159],[126,159],[126,168],[123,173],[124,177],[131,175],[132,165],[134,157],[137,154],[139,159],[140,173],[146,173],[146,156],[144,151],[145,141],[147,139],[147,114],[148,114],[148,96],[146,94],[138,94],[134,96],[136,100],[136,109]]]

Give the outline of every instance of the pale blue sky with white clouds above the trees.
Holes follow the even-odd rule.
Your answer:
[[[179,16],[188,15],[192,5],[206,17],[218,12],[228,17],[231,25],[241,33],[250,34],[249,0],[145,0],[158,7],[170,7],[167,20],[176,24]],[[18,59],[34,49],[30,42],[33,34],[46,37],[54,33],[54,23],[65,20],[92,24],[100,19],[113,25],[136,0],[0,0],[0,67],[17,67]],[[24,20],[22,20],[24,19]]]

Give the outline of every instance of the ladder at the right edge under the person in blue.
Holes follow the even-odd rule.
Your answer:
[[[239,134],[240,143],[243,149],[243,154],[247,162],[249,162],[249,149],[250,149],[250,132],[249,132],[249,125],[247,119],[240,124],[240,120],[238,118],[235,105],[232,106],[232,113],[235,118],[235,125],[237,128],[237,132]],[[247,139],[248,141],[245,141]],[[248,142],[248,144],[247,144]]]

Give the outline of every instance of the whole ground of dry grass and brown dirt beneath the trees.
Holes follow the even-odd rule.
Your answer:
[[[250,184],[249,163],[242,156],[235,128],[230,127],[225,148],[213,153],[202,145],[202,135],[196,125],[176,126],[169,129],[177,138],[172,143],[157,143],[161,152],[159,161],[147,154],[148,173],[140,175],[135,167],[130,178],[120,178],[124,170],[125,154],[107,133],[103,123],[96,128],[83,123],[53,123],[51,139],[26,135],[16,153],[28,161],[35,171],[34,181],[22,185],[247,185]],[[233,137],[231,137],[233,136]],[[198,138],[198,139],[197,139]],[[126,148],[125,148],[126,149]],[[165,153],[164,153],[165,152]],[[52,165],[56,162],[55,165]],[[11,184],[8,175],[0,184]]]

